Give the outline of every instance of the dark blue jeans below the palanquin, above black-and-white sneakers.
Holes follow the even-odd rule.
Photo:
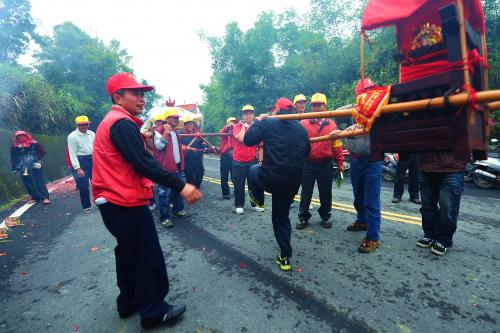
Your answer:
[[[418,180],[424,236],[451,247],[464,191],[464,173],[420,172]]]

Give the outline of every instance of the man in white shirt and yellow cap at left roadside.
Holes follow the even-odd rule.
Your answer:
[[[91,206],[89,182],[92,179],[95,133],[89,130],[90,121],[87,116],[76,117],[75,123],[76,130],[68,135],[68,152],[82,208],[88,212]]]

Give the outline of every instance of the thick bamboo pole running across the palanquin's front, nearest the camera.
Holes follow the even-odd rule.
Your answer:
[[[452,95],[449,97],[448,103],[453,106],[466,105],[469,102],[469,97],[470,96],[468,93]],[[476,103],[478,104],[485,104],[497,101],[500,101],[500,89],[479,91],[476,93]],[[442,107],[445,107],[444,97],[434,97],[428,99],[421,99],[418,101],[388,104],[382,107],[381,113],[392,113],[392,112],[402,113],[402,112],[412,112],[425,109],[436,109]],[[324,111],[324,112],[309,112],[301,114],[275,115],[275,116],[269,116],[269,118],[277,118],[282,120],[336,118],[336,117],[351,116],[353,111],[354,109]]]

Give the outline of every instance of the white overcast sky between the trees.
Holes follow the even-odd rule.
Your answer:
[[[136,76],[177,104],[202,103],[199,85],[210,82],[210,53],[200,31],[222,36],[232,21],[247,30],[263,11],[293,8],[304,14],[309,4],[309,0],[31,0],[39,33],[52,35],[55,25],[71,21],[106,43],[117,39],[133,57]]]

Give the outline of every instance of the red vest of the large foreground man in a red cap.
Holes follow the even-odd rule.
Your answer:
[[[113,105],[99,124],[94,141],[92,192],[94,201],[104,198],[125,207],[144,206],[153,197],[153,183],[138,174],[113,145],[110,129],[121,119],[129,119],[138,128],[143,121],[131,116],[125,109]],[[144,141],[144,137],[142,137]],[[146,143],[144,142],[144,147]]]

